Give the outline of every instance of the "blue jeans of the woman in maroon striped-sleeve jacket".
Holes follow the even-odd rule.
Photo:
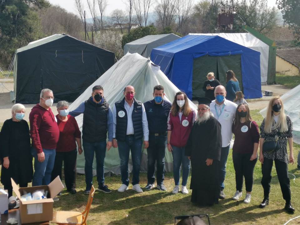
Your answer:
[[[182,164],[182,186],[187,185],[188,174],[190,173],[190,160],[184,155],[184,147],[176,147],[172,145],[173,151],[173,176],[175,185],[179,185],[180,166]]]

